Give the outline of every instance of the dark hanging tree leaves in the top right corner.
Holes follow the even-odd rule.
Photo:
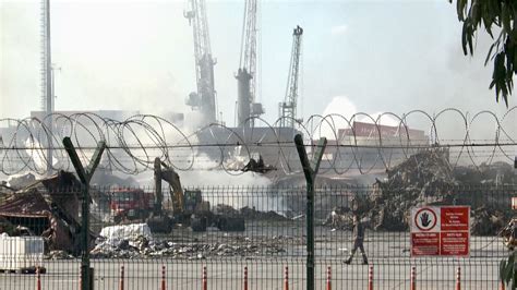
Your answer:
[[[453,0],[449,0],[453,2]],[[515,0],[456,0],[458,20],[464,23],[461,46],[464,53],[473,55],[478,28],[483,27],[494,40],[484,65],[493,61],[492,83],[495,99],[502,97],[508,106],[514,88],[513,76],[517,73],[517,1]]]

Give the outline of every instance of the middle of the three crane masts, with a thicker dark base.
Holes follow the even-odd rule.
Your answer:
[[[256,12],[257,0],[247,0],[244,4],[244,22],[242,27],[241,53],[238,83],[237,120],[238,125],[249,125],[250,117],[264,113],[262,104],[255,102],[256,97]]]

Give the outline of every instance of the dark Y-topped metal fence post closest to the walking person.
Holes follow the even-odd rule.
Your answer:
[[[312,162],[306,156],[305,146],[303,145],[303,137],[300,134],[294,136],[294,144],[297,146],[298,156],[303,168],[303,174],[306,182],[306,290],[314,290],[314,180],[316,179],[320,162],[322,161],[326,138],[320,138],[316,150],[313,154]]]

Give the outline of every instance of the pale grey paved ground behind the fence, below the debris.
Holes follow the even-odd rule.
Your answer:
[[[277,228],[277,232],[256,235],[302,237]],[[294,230],[298,230],[296,228]],[[290,233],[290,234],[286,234]],[[200,237],[204,241],[230,239],[220,232]],[[223,234],[225,235],[223,238]],[[241,233],[253,235],[253,232]],[[366,289],[369,267],[340,262],[352,243],[344,231],[316,229],[316,289],[325,289],[326,267],[332,266],[333,289]],[[457,266],[461,266],[461,289],[497,289],[498,262],[507,253],[495,238],[472,237],[470,258],[410,258],[407,233],[366,233],[365,247],[371,265],[374,265],[375,289],[409,289],[411,266],[417,266],[418,289],[454,289]],[[359,256],[358,256],[359,257]],[[120,266],[125,267],[124,289],[159,289],[161,265],[167,269],[168,289],[202,289],[202,269],[208,269],[208,289],[242,289],[243,267],[249,268],[249,289],[282,289],[284,267],[289,267],[290,289],[304,289],[304,246],[290,244],[286,252],[251,258],[220,257],[217,259],[179,261],[163,259],[94,259],[95,289],[118,289]],[[79,289],[79,261],[45,261],[48,274],[41,276],[43,289]],[[0,290],[35,289],[35,275],[0,274]]]

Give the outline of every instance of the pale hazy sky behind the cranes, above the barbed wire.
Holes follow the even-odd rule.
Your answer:
[[[219,110],[233,124],[242,1],[207,1]],[[40,107],[39,1],[0,0],[0,117]],[[51,1],[57,110],[185,111],[194,90],[183,1]],[[436,1],[262,1],[258,98],[267,120],[284,99],[296,25],[304,29],[300,106],[313,113],[455,107],[503,114],[489,90],[488,40],[465,57],[455,4]],[[336,97],[341,97],[339,101]],[[348,98],[345,99],[345,98]],[[510,107],[515,105],[510,98]]]

